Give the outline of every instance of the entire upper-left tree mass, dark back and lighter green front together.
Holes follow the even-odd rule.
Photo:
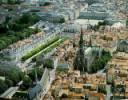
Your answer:
[[[35,14],[23,14],[19,19],[10,20],[11,18],[6,17],[5,22],[0,24],[0,50],[39,31],[37,28],[28,28],[39,21]]]

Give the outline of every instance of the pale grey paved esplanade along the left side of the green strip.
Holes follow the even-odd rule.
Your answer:
[[[32,43],[30,44],[25,44],[19,48],[12,48],[12,49],[5,49],[3,51],[1,51],[1,54],[4,57],[6,57],[6,59],[0,58],[0,65],[4,66],[0,66],[0,68],[4,68],[4,69],[10,69],[10,68],[20,68],[21,67],[21,58],[27,54],[28,52],[30,52],[31,50],[33,50],[34,48],[47,43],[48,40],[51,40],[52,38],[56,37],[57,35],[59,35],[60,31],[57,31],[53,34],[50,35],[45,35],[45,36],[41,36],[38,38],[33,38]],[[32,38],[32,37],[30,37]]]

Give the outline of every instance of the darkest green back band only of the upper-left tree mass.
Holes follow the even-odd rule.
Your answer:
[[[5,21],[0,24],[0,35],[8,34],[8,31],[19,32],[40,20],[35,13],[24,13],[21,17],[13,19],[6,16]]]

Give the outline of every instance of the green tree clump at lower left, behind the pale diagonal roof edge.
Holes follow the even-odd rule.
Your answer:
[[[34,68],[28,75],[23,72],[12,69],[8,72],[1,72],[1,76],[5,76],[5,80],[0,79],[0,94],[5,92],[9,87],[16,86],[18,82],[23,80],[23,84],[21,85],[22,90],[26,90],[33,85],[33,82],[37,79],[40,80],[43,75],[42,68]]]

